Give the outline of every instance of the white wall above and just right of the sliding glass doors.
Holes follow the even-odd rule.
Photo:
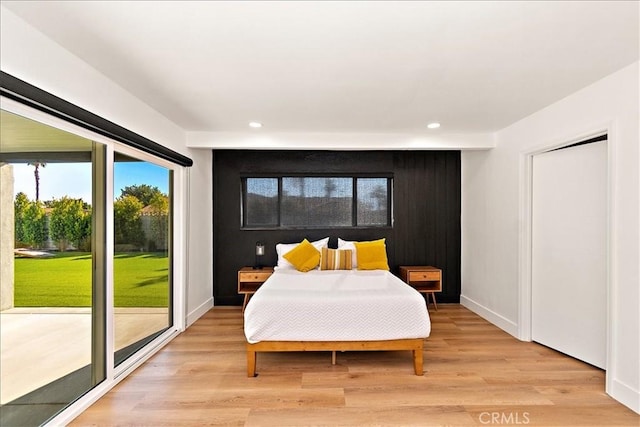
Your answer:
[[[157,111],[26,24],[0,13],[0,68],[19,79],[193,159],[189,171],[187,324],[212,306],[211,153]]]

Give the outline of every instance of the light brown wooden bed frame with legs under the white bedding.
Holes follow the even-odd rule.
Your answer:
[[[247,376],[255,377],[256,353],[281,351],[331,351],[332,362],[335,364],[336,351],[367,351],[367,350],[410,350],[413,352],[413,370],[416,375],[422,375],[423,338],[384,340],[384,341],[261,341],[255,344],[247,343]]]

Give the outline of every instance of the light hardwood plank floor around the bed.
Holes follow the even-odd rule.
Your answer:
[[[604,372],[460,305],[431,311],[424,376],[403,352],[264,353],[247,378],[239,308],[214,308],[72,425],[638,426]]]

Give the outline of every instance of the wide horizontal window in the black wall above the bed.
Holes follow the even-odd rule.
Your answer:
[[[391,226],[390,177],[242,179],[244,228]]]

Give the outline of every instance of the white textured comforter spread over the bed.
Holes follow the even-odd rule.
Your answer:
[[[276,270],[244,313],[247,341],[426,338],[424,298],[388,271]]]

